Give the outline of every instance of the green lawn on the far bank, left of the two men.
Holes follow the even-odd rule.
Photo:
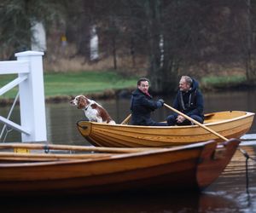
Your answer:
[[[0,88],[14,80],[16,75],[2,75]],[[44,93],[46,97],[101,93],[108,89],[136,87],[137,77],[124,77],[117,72],[46,72]],[[14,98],[18,88],[9,90],[3,98]]]

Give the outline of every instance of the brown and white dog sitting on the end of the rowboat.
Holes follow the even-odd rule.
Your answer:
[[[115,124],[108,112],[96,101],[92,101],[84,95],[76,96],[70,103],[84,110],[86,118],[90,121],[106,124]]]

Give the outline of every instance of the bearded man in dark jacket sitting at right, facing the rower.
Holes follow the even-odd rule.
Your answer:
[[[179,91],[177,91],[173,107],[202,124],[204,122],[204,102],[203,95],[198,87],[199,85],[195,79],[192,79],[189,76],[183,76],[179,82]],[[168,125],[192,124],[188,119],[176,112],[167,117],[167,123]]]

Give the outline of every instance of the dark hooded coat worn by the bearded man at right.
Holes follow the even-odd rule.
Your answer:
[[[203,95],[201,94],[201,91],[199,91],[198,87],[199,84],[195,79],[193,79],[192,87],[189,91],[184,92],[179,90],[176,98],[174,99],[173,107],[188,116],[198,115],[201,118],[204,118]]]

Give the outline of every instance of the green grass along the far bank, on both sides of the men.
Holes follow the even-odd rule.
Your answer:
[[[0,88],[11,80],[15,75],[2,75]],[[201,78],[201,89],[227,89],[245,85],[244,76],[207,76]],[[105,92],[104,97],[113,96],[116,89],[135,88],[136,76],[123,76],[119,73],[106,72],[46,72],[44,73],[44,91],[48,100],[61,101],[74,95],[97,95]],[[17,87],[11,89],[0,99],[13,99],[17,93]]]

